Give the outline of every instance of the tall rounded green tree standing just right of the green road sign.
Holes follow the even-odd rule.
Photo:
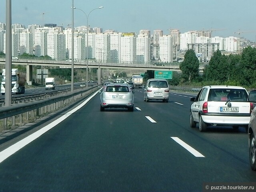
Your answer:
[[[180,70],[182,71],[182,78],[188,82],[192,82],[199,76],[199,60],[192,49],[184,55],[184,61],[180,63]]]

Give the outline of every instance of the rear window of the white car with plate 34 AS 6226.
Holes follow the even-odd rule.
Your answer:
[[[210,89],[208,101],[247,102],[248,93],[244,89]]]

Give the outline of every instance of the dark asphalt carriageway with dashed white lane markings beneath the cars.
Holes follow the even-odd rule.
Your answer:
[[[96,93],[63,111],[63,121],[34,128],[48,131],[31,142],[32,130],[0,145],[0,192],[191,192],[205,182],[255,182],[244,128],[190,128],[190,97],[144,102],[136,89],[134,112],[100,112]],[[28,144],[12,154],[21,139]]]

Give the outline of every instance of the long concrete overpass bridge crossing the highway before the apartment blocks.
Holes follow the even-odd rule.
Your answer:
[[[5,64],[5,58],[0,58],[0,64]],[[42,60],[41,58],[29,58],[12,60],[14,65],[26,65],[27,82],[32,81],[32,66],[43,66],[44,68],[71,68],[71,62]],[[86,68],[86,61],[74,62],[74,68]],[[88,68],[101,69],[132,69],[132,70],[170,70],[180,71],[180,63],[171,63],[164,66],[156,66],[153,64],[140,63],[109,63],[109,62],[94,62],[88,61]],[[204,65],[199,66],[199,72],[203,72]],[[100,74],[100,73],[99,73]]]

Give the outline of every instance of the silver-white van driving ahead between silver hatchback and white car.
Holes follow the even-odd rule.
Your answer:
[[[144,88],[144,101],[169,100],[169,84],[166,79],[148,79]]]

